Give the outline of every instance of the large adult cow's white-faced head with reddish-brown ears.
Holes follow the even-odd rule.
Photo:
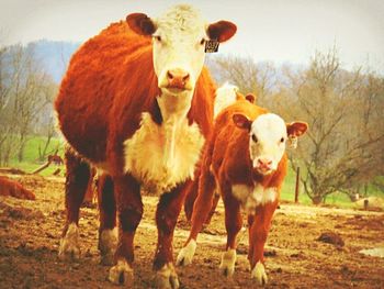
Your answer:
[[[163,95],[193,92],[203,68],[205,42],[225,42],[236,33],[236,25],[219,21],[207,24],[187,4],[176,5],[165,15],[150,19],[143,13],[126,18],[137,34],[153,37],[154,66]]]

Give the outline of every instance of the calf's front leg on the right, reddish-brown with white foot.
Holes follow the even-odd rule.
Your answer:
[[[267,203],[256,208],[256,215],[249,215],[249,252],[248,259],[251,268],[251,277],[259,285],[266,285],[268,277],[264,267],[264,244],[271,226],[273,212],[278,202]]]

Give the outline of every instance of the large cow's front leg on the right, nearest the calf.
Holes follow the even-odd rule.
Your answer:
[[[154,260],[157,286],[159,288],[179,288],[179,279],[173,266],[173,231],[184,201],[182,186],[160,197],[156,211],[158,231],[157,248]]]

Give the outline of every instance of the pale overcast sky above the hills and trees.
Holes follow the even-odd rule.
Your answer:
[[[83,42],[131,12],[156,16],[180,2],[210,22],[237,24],[222,54],[305,65],[336,46],[346,69],[370,66],[384,75],[383,0],[0,0],[0,44]]]

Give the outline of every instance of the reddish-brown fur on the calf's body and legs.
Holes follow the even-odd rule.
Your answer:
[[[202,159],[202,171],[199,184],[197,199],[193,207],[192,229],[185,245],[196,240],[203,223],[211,211],[216,181],[225,204],[225,224],[227,230],[227,248],[236,248],[236,235],[241,229],[240,202],[231,193],[231,185],[260,184],[264,188],[275,187],[278,194],[286,175],[286,155],[282,157],[275,171],[268,176],[259,175],[252,167],[249,155],[249,133],[237,127],[233,121],[235,113],[242,113],[250,120],[267,113],[267,110],[251,104],[245,98],[224,109],[216,118],[214,130],[206,144]],[[216,180],[215,180],[216,179]],[[274,202],[259,204],[256,215],[249,215],[249,254],[251,268],[263,262],[263,247],[267,240],[273,212],[278,205],[279,196]]]

